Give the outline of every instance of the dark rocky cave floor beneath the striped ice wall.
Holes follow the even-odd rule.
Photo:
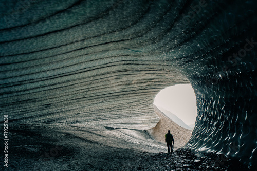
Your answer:
[[[249,170],[221,155],[166,148],[143,130],[12,124],[8,168],[0,170]]]

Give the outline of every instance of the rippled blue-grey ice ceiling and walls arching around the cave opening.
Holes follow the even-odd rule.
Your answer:
[[[192,84],[186,147],[257,158],[256,1],[1,1],[9,123],[153,127],[163,88]],[[1,118],[3,120],[3,118]]]

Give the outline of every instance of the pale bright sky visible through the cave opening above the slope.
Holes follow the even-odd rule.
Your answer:
[[[154,104],[175,114],[187,125],[195,123],[196,98],[191,84],[179,84],[161,90]]]

